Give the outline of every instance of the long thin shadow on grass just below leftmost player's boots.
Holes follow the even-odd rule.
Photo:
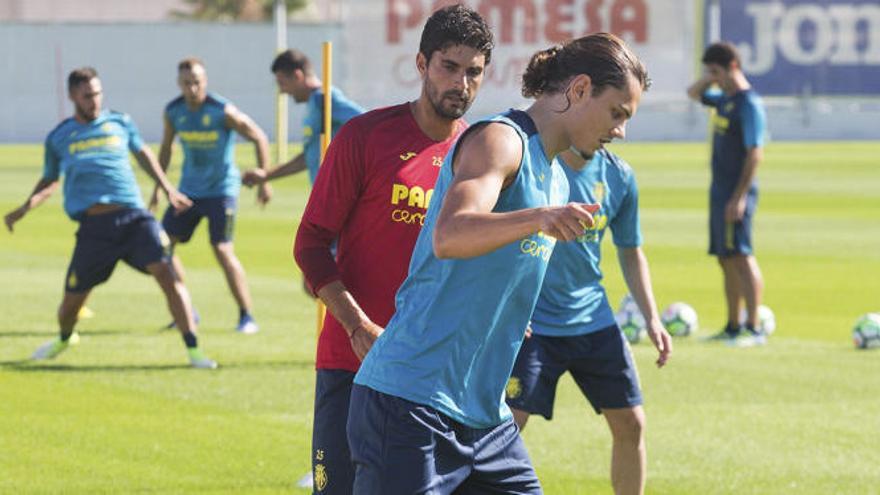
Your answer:
[[[256,362],[228,362],[220,363],[218,371],[222,370],[257,370],[257,369],[284,369],[284,368],[313,368],[313,361],[256,361]],[[17,371],[21,373],[90,373],[95,371],[131,372],[131,371],[175,371],[191,369],[186,363],[178,364],[106,364],[106,365],[73,365],[73,364],[47,364],[36,362],[31,359],[17,359],[0,361],[0,369]],[[198,370],[202,371],[202,370]]]

